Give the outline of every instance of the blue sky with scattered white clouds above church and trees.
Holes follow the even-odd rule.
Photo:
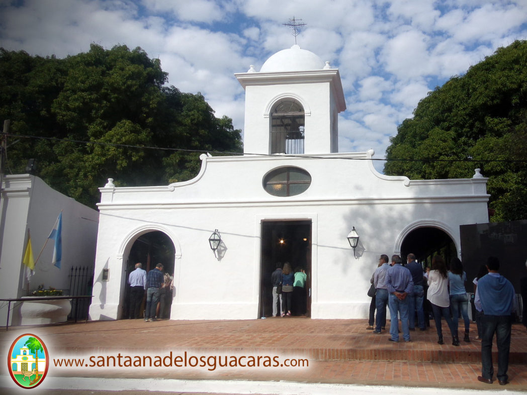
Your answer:
[[[169,84],[201,92],[243,130],[233,74],[294,44],[282,25],[294,16],[307,24],[298,44],[340,70],[339,151],[377,158],[427,92],[527,38],[525,0],[0,0],[0,46],[57,57],[140,46]]]

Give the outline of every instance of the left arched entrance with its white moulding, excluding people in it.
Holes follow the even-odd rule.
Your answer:
[[[141,308],[138,312],[130,309],[130,285],[128,278],[134,270],[135,264],[140,262],[144,270],[150,271],[157,263],[163,264],[163,272],[172,278],[177,278],[175,259],[180,258],[181,253],[174,243],[173,235],[158,226],[143,226],[130,232],[126,240],[120,246],[120,258],[122,259],[122,271],[124,273],[120,292],[120,315],[119,318],[127,319],[133,315],[142,315],[146,298],[143,298]],[[175,281],[174,281],[175,282]],[[170,318],[170,308],[173,292],[163,289],[161,302],[158,306],[159,317]]]

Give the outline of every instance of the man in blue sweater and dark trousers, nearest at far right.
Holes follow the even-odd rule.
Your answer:
[[[474,305],[483,312],[481,339],[481,376],[477,379],[492,384],[492,338],[496,333],[497,380],[501,386],[509,381],[509,350],[511,347],[512,309],[514,306],[514,287],[498,271],[500,261],[495,256],[487,260],[489,274],[477,281]]]

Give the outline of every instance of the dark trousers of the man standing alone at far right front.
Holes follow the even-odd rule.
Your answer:
[[[509,369],[509,350],[511,347],[511,315],[485,315],[481,317],[483,338],[481,339],[481,376],[492,379],[492,338],[496,333],[497,379],[506,381]]]

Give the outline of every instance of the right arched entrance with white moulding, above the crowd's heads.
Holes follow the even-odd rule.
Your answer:
[[[438,221],[419,221],[401,232],[395,244],[395,253],[401,255],[403,262],[406,262],[409,253],[413,253],[424,266],[431,264],[435,254],[442,255],[448,263],[460,256],[459,244],[456,243],[458,233]]]

